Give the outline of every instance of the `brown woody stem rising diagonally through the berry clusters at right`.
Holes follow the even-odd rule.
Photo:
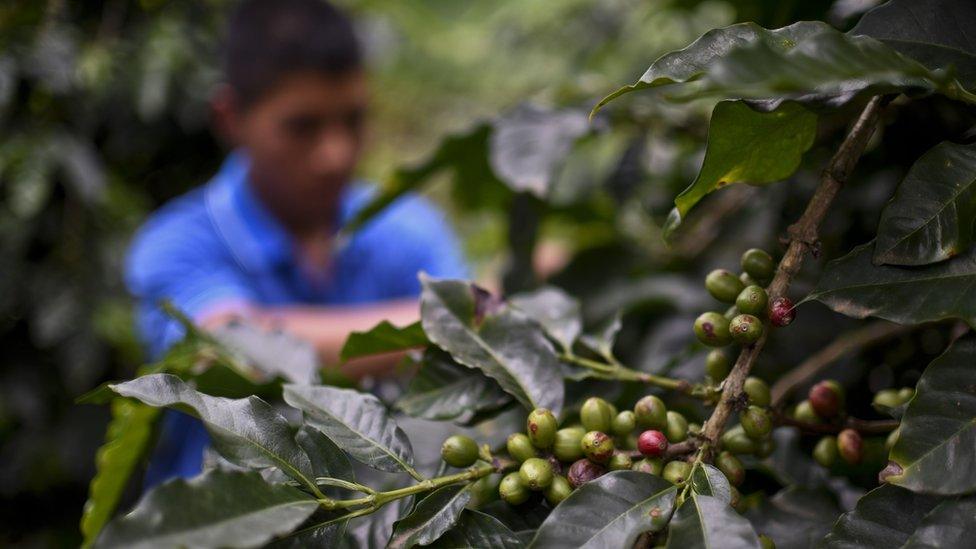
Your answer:
[[[868,101],[837,152],[830,159],[830,164],[821,176],[820,185],[810,198],[810,202],[807,203],[803,215],[787,230],[789,247],[779,262],[772,284],[769,285],[768,291],[771,302],[786,296],[790,283],[796,273],[800,271],[800,266],[803,264],[803,258],[807,252],[816,253],[819,251],[817,234],[820,223],[827,215],[827,210],[834,201],[834,197],[837,196],[840,187],[850,177],[854,166],[867,146],[868,139],[874,133],[881,115],[882,105],[883,99],[880,96]],[[742,385],[766,344],[766,338],[769,336],[768,324],[766,328],[758,341],[743,348],[742,352],[739,353],[735,366],[732,367],[732,371],[725,379],[722,398],[715,406],[711,417],[705,422],[702,435],[706,442],[712,443],[709,445],[711,447],[715,446],[714,443],[718,441],[725,429],[725,423],[733,409],[743,403]]]

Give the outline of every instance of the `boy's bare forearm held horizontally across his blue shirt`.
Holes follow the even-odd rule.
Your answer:
[[[207,329],[217,328],[239,312],[228,312],[200,319]],[[249,307],[246,316],[259,325],[281,328],[311,343],[326,365],[339,364],[339,352],[351,332],[363,332],[386,320],[406,326],[420,318],[416,298],[399,299],[356,306]],[[392,375],[402,353],[386,353],[353,359],[341,365],[341,372],[353,379]]]

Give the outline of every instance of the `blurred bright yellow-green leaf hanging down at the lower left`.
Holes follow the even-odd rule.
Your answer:
[[[89,547],[112,518],[129,479],[146,453],[159,410],[115,397],[105,444],[95,454],[95,476],[81,514],[83,546]]]

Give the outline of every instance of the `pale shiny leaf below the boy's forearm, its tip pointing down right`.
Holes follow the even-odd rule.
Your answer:
[[[381,471],[419,476],[407,435],[375,396],[352,389],[285,385],[284,397],[305,413],[308,424],[354,459]]]

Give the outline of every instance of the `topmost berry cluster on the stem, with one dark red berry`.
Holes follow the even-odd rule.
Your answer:
[[[751,345],[762,337],[764,318],[769,318],[774,326],[793,322],[793,303],[785,297],[770,302],[764,289],[776,269],[772,256],[752,248],[742,254],[741,266],[743,272],[739,276],[716,269],[705,277],[708,293],[731,305],[725,313],[709,311],[695,319],[695,335],[705,345]]]

